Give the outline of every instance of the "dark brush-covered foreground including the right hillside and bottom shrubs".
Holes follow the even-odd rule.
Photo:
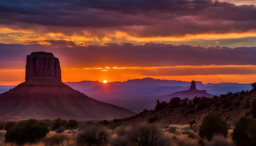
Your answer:
[[[251,91],[229,92],[213,98],[158,100],[155,110],[145,109],[135,116],[113,121],[77,122],[57,118],[1,123],[0,146],[256,145],[256,84],[252,87]],[[236,113],[235,109],[242,111]],[[166,111],[179,116],[164,117]],[[227,118],[229,111],[237,115]],[[196,115],[202,117],[198,119]],[[171,124],[182,120],[186,124]]]

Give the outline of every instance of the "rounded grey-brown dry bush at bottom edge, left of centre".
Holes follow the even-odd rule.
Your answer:
[[[89,125],[76,133],[78,144],[88,143],[89,146],[105,143],[110,136],[110,131],[106,126]]]

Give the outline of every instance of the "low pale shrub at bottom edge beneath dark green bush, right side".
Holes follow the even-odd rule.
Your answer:
[[[234,144],[223,135],[213,135],[211,142],[206,142],[204,146],[234,146]]]

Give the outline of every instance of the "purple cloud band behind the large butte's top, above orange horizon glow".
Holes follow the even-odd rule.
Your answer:
[[[87,68],[105,66],[180,66],[180,65],[256,65],[255,47],[210,47],[172,45],[163,43],[105,43],[94,46],[72,46],[70,42],[54,42],[50,46],[39,44],[0,44],[0,60],[23,61],[34,51],[52,52],[61,60],[63,68]],[[66,44],[56,45],[59,43]],[[25,66],[25,63],[24,63]],[[24,67],[23,66],[23,67]],[[17,68],[9,64],[8,68]],[[1,64],[0,68],[6,68]]]

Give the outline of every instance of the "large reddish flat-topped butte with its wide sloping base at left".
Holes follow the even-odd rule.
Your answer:
[[[52,53],[27,55],[25,82],[0,94],[0,121],[23,119],[112,120],[135,115],[125,108],[94,100],[61,81]]]

